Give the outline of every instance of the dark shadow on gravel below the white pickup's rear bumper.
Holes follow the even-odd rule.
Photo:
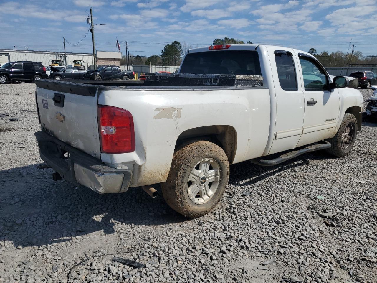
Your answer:
[[[148,238],[151,235],[142,232],[145,225],[188,220],[173,212],[161,194],[151,198],[141,188],[130,188],[123,194],[100,195],[53,181],[52,169],[37,168],[42,164],[0,171],[0,240],[16,247],[47,245],[101,230],[112,234],[115,223],[140,226],[139,236]]]

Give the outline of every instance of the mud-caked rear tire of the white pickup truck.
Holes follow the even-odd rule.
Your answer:
[[[216,178],[215,183],[217,182],[217,189],[211,192],[208,200],[203,199],[203,201],[205,201],[204,203],[195,203],[192,197],[190,198],[189,196],[189,184],[193,184],[189,178],[192,178],[190,176],[192,176],[192,172],[196,167],[199,166],[198,168],[201,168],[200,162],[207,161],[210,163],[208,170],[197,170],[197,172],[201,172],[200,174],[218,172],[216,177],[212,177],[215,176],[215,173],[213,173],[213,175],[208,176],[206,180],[206,182],[211,182],[210,179]],[[213,166],[212,169],[211,166]],[[203,181],[202,179],[199,180],[199,178],[200,177],[198,177],[197,182]],[[174,153],[169,177],[165,183],[161,184],[162,195],[166,203],[176,212],[186,217],[201,217],[210,212],[218,204],[224,194],[228,180],[229,162],[222,148],[210,141],[195,141],[185,145]],[[209,185],[207,191],[210,191],[215,183],[211,183],[211,185],[207,183]],[[205,185],[205,188],[207,188],[207,185]],[[198,192],[196,196],[199,195],[200,193]],[[198,199],[200,199],[200,196]]]

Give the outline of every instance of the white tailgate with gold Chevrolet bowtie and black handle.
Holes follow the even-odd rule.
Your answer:
[[[98,86],[48,80],[36,81],[36,85],[42,131],[100,158]]]

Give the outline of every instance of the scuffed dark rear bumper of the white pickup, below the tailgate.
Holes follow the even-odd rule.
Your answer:
[[[95,157],[58,140],[43,131],[36,132],[41,159],[69,182],[81,184],[99,194],[126,192],[132,178],[127,169],[104,165]],[[68,157],[64,154],[68,153]]]

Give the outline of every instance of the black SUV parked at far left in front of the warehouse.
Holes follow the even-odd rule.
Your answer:
[[[0,83],[9,81],[31,83],[47,77],[46,67],[40,62],[17,61],[6,63],[0,67]]]

